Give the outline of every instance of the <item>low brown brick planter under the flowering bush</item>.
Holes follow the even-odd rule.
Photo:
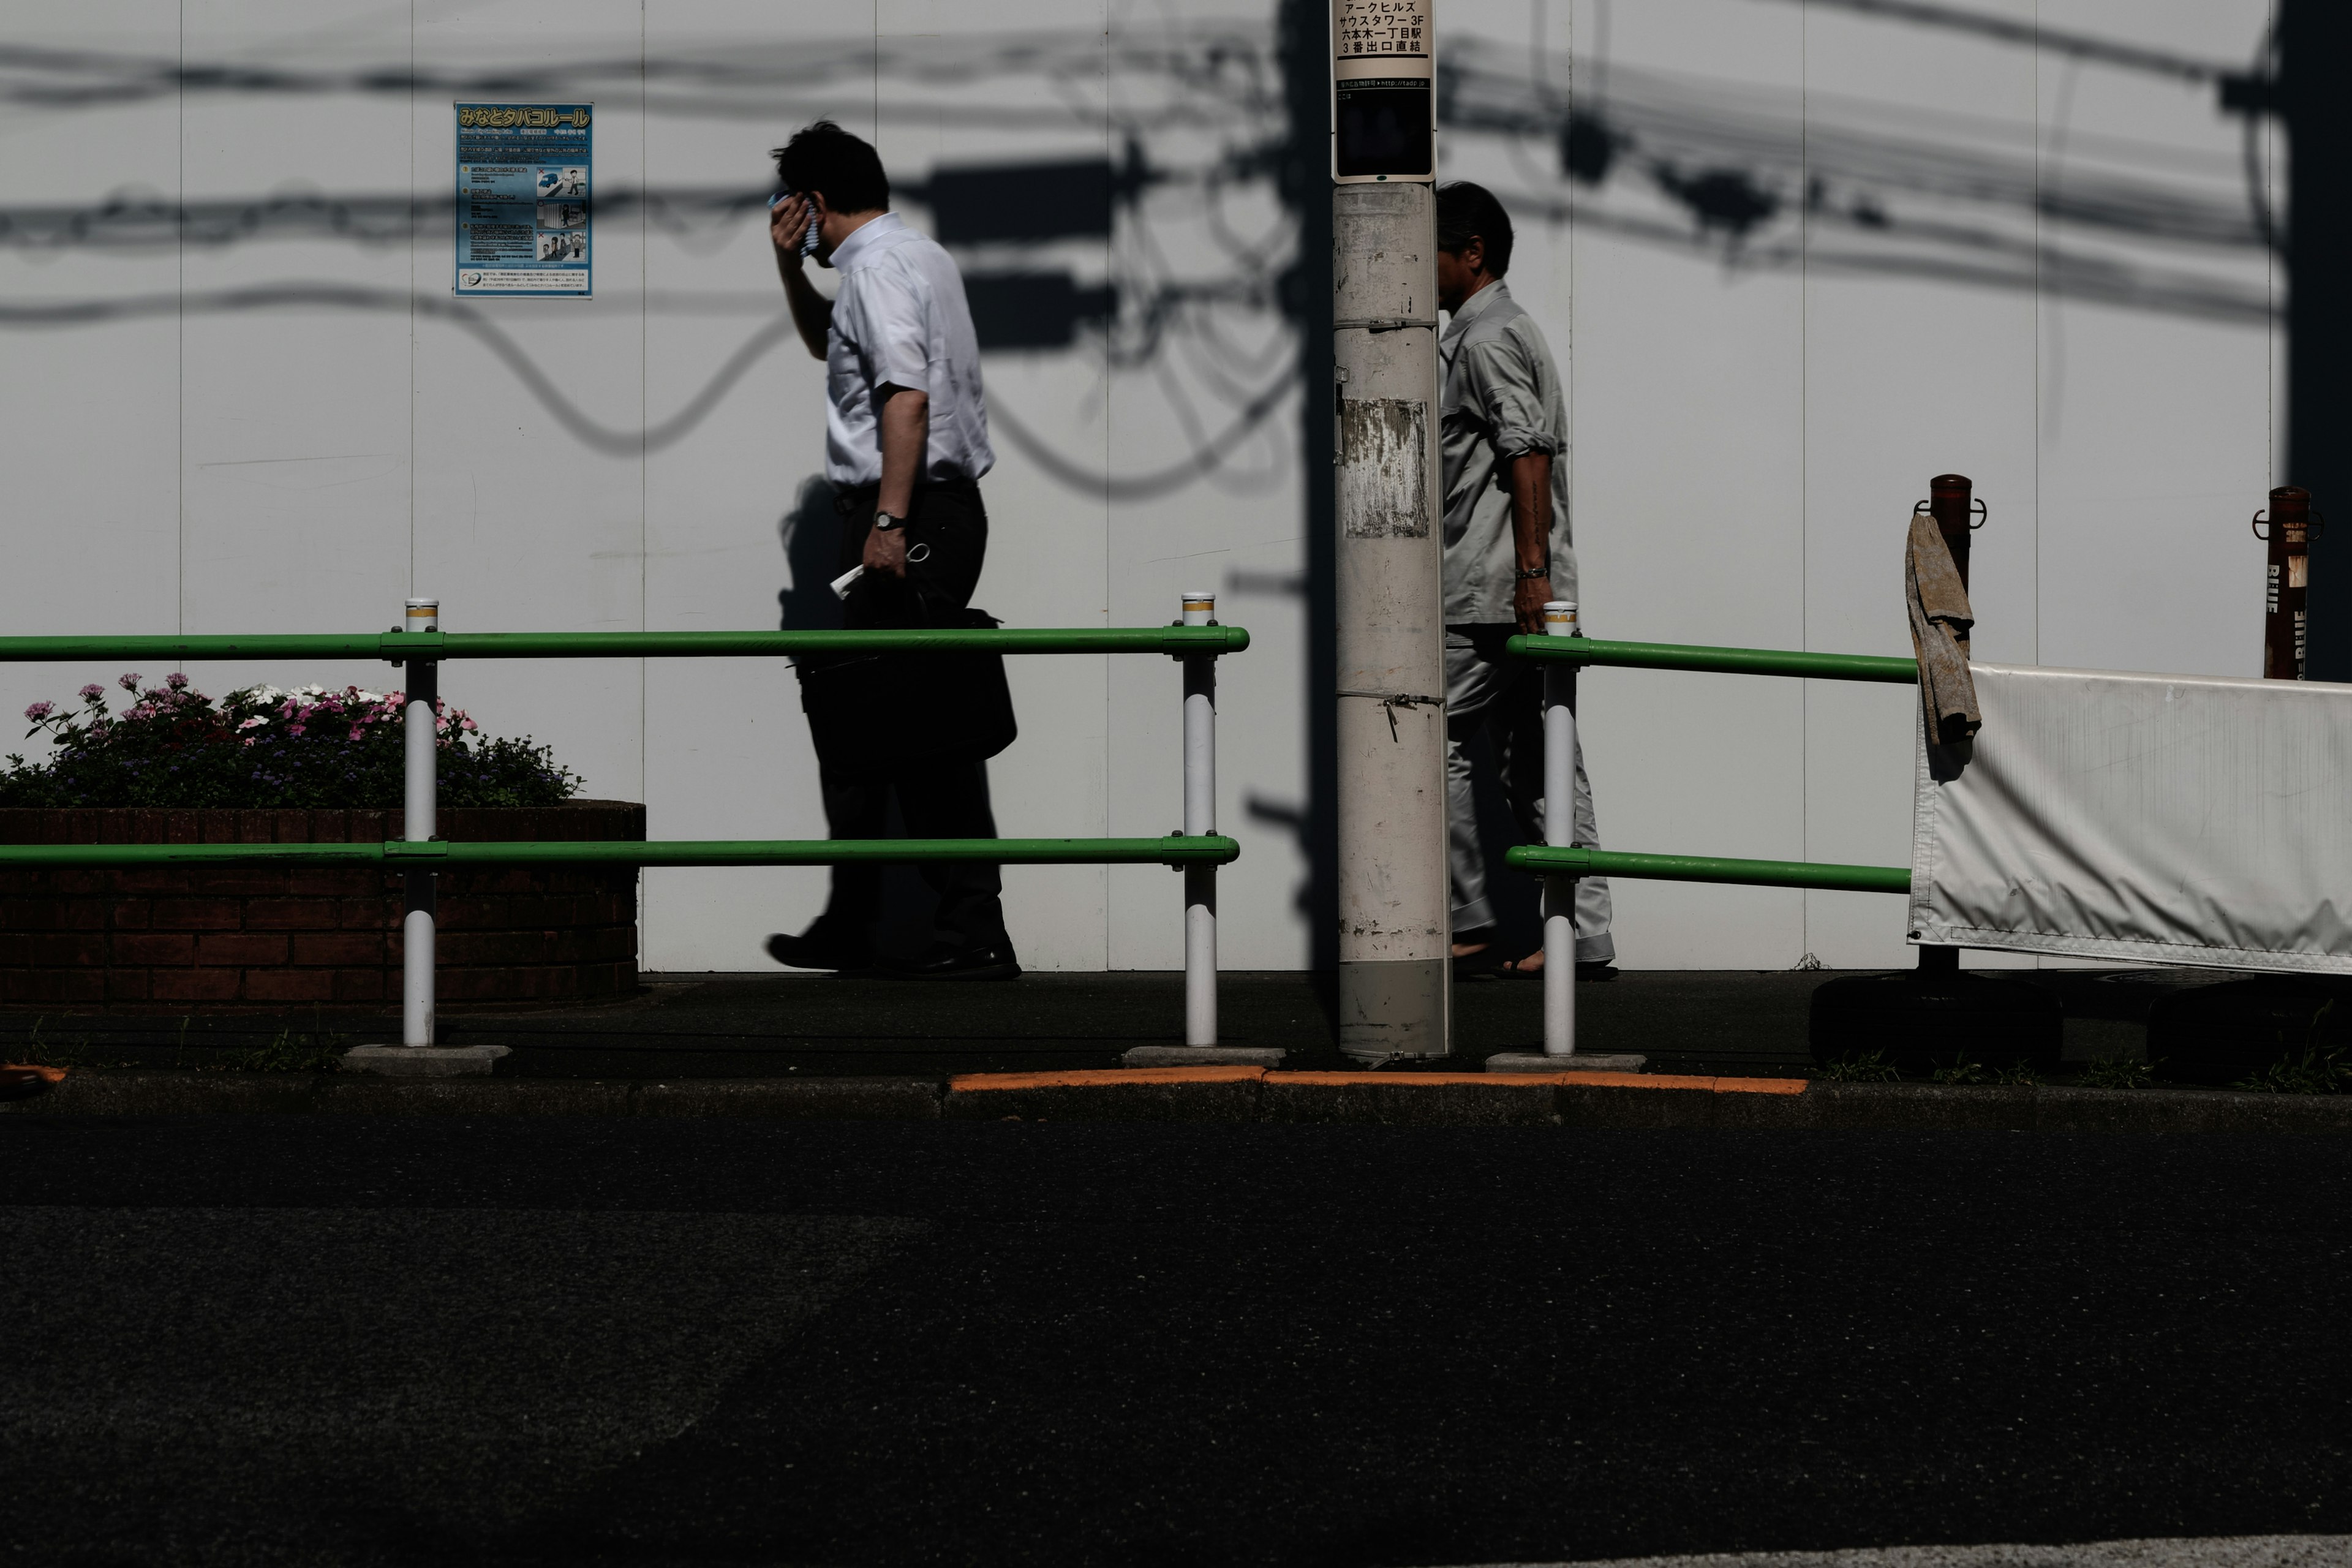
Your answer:
[[[644,839],[644,806],[442,809],[445,839]],[[353,844],[400,811],[0,809],[0,844]],[[400,1004],[400,872],[334,865],[0,867],[0,1004],[125,1013]],[[635,867],[440,875],[440,999],[637,990]]]

